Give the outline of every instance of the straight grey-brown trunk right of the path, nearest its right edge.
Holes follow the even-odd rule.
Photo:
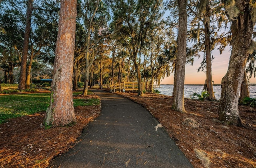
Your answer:
[[[172,109],[185,113],[184,107],[184,80],[186,65],[186,33],[187,11],[186,0],[178,0],[179,27],[178,27],[178,55],[176,58],[174,78],[174,102]]]

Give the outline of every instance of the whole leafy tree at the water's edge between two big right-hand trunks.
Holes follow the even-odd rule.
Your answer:
[[[193,48],[198,52],[203,51],[203,61],[198,68],[206,73],[206,89],[209,93],[208,99],[214,100],[214,91],[212,83],[212,50],[219,45],[220,53],[229,44],[229,36],[226,36],[222,23],[226,22],[226,17],[221,10],[222,6],[216,0],[190,0],[188,7],[194,14],[191,21],[191,31],[188,39],[197,41]],[[219,32],[222,33],[219,33]],[[230,32],[229,32],[230,33]]]

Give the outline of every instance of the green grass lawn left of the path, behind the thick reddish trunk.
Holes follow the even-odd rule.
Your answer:
[[[82,92],[74,92],[74,95]],[[0,124],[9,118],[46,111],[50,103],[50,93],[11,94],[0,96]],[[98,105],[99,99],[74,99],[74,107]]]

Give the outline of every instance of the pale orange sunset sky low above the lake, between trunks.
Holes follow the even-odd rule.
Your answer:
[[[222,77],[226,74],[228,70],[228,62],[230,58],[230,47],[226,48],[225,51],[220,55],[218,50],[212,51],[214,59],[212,60],[212,80],[214,84],[221,84]],[[186,64],[185,70],[185,84],[204,84],[206,80],[206,74],[202,71],[197,72],[200,64],[202,62],[202,57],[199,59],[195,58],[193,66]],[[161,84],[173,84],[174,74],[172,73],[168,78],[164,78]],[[255,84],[256,78],[252,76],[250,78],[250,83]]]

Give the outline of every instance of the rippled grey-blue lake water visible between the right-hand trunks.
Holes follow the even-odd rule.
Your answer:
[[[190,98],[190,95],[193,95],[194,92],[200,93],[202,92],[204,86],[202,85],[185,85],[184,86],[184,97]],[[160,94],[164,94],[167,96],[172,96],[173,85],[160,85],[160,87],[155,88],[160,91]],[[256,98],[256,86],[249,86],[250,89],[250,98]],[[213,90],[215,92],[215,98],[217,100],[220,99],[221,94],[221,86],[213,86]]]

